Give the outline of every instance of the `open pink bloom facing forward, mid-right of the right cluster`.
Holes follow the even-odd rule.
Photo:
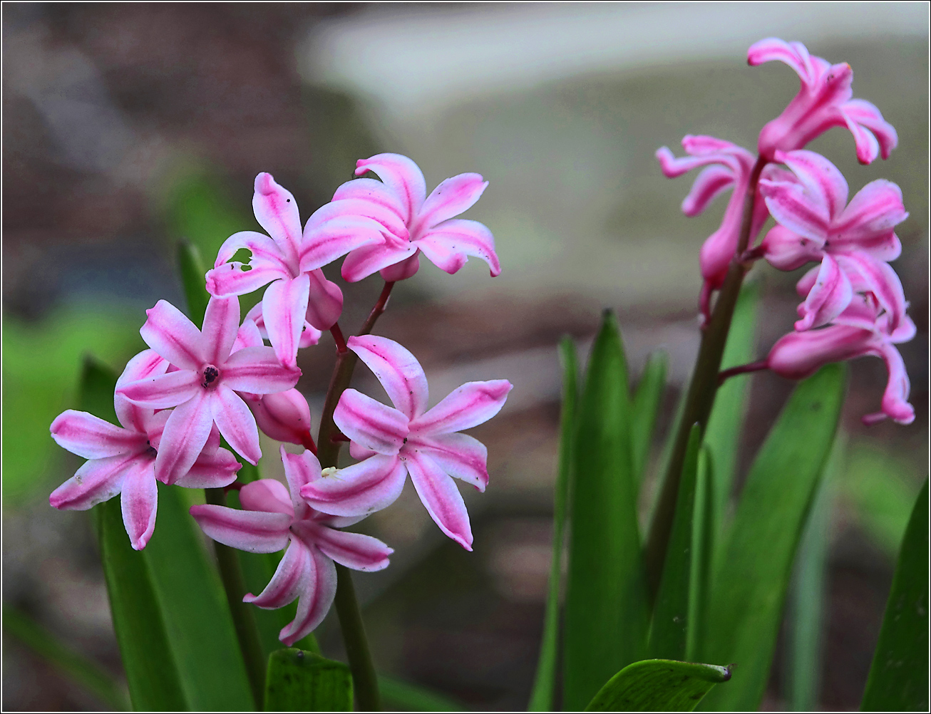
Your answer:
[[[869,291],[889,313],[896,330],[905,300],[895,271],[901,244],[894,227],[908,218],[895,183],[868,183],[847,203],[843,174],[828,159],[810,151],[776,152],[792,173],[760,181],[766,206],[779,223],[753,252],[780,270],[822,261],[814,287],[806,290],[803,319],[796,330],[829,323],[853,294],[851,280]]]

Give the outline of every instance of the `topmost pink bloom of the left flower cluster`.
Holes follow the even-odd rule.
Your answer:
[[[418,253],[441,270],[455,273],[468,256],[481,258],[492,276],[501,264],[494,252],[492,232],[482,223],[453,219],[475,205],[488,186],[477,173],[461,173],[426,195],[420,168],[407,156],[378,154],[356,162],[356,175],[374,171],[381,181],[355,179],[336,189],[333,201],[355,200],[362,215],[385,225],[385,243],[355,249],[343,262],[343,277],[356,282],[381,271],[388,282],[417,272]],[[385,219],[385,209],[390,219]]]

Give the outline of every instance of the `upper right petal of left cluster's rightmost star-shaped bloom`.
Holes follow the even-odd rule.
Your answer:
[[[411,434],[450,434],[483,424],[501,411],[512,388],[513,384],[506,379],[463,384],[433,409],[412,420]]]

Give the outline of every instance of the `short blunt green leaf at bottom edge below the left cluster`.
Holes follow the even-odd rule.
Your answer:
[[[352,711],[352,675],[342,662],[290,648],[268,658],[265,711]]]

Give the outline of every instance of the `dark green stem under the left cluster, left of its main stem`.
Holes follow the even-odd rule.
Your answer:
[[[223,489],[204,489],[204,493],[207,495],[207,503],[226,505],[226,493]],[[239,640],[239,649],[242,650],[242,656],[246,662],[252,696],[255,698],[256,708],[261,710],[265,698],[265,658],[259,629],[255,625],[254,613],[249,605],[242,601],[242,597],[246,594],[242,567],[233,548],[223,546],[222,543],[216,541],[213,542],[213,547],[217,554],[217,564],[220,567],[220,579],[223,581],[226,601],[233,615],[236,639]]]

